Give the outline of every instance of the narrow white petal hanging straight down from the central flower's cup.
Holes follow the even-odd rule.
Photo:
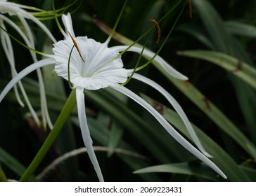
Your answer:
[[[94,148],[92,146],[92,140],[89,132],[89,127],[87,125],[87,116],[85,113],[85,104],[84,104],[84,88],[77,87],[76,89],[76,96],[77,96],[77,112],[78,112],[78,119],[80,123],[80,128],[82,132],[82,138],[84,141],[84,146],[87,148],[87,153],[91,160],[92,165],[94,165],[95,172],[98,176],[98,180],[103,182],[103,176],[101,174],[101,168],[98,165],[98,160],[94,153]]]

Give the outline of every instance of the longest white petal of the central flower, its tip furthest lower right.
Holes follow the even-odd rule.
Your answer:
[[[162,125],[162,127],[165,127],[165,130],[174,138],[176,139],[179,144],[184,146],[189,152],[191,152],[193,155],[195,155],[198,159],[202,160],[205,162],[206,165],[211,167],[212,169],[215,170],[220,176],[222,176],[224,179],[226,179],[225,174],[213,163],[211,160],[209,160],[205,155],[200,153],[198,149],[196,149],[194,146],[192,146],[184,137],[177,132],[172,125],[170,125],[165,118],[163,118],[158,111],[156,111],[150,104],[148,104],[144,99],[139,97],[137,94],[132,92],[131,90],[127,89],[126,87],[123,86],[117,86],[117,87],[112,87],[113,89],[122,92],[123,94],[127,95],[127,97],[130,97],[133,99],[135,102],[143,106],[144,109],[146,109],[148,112],[150,112],[156,120]]]

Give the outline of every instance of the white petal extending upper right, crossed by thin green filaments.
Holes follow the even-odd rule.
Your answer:
[[[127,46],[127,45],[117,45],[117,46],[113,46],[111,48],[118,50],[119,52],[122,52],[122,51],[126,50],[128,47],[129,46]],[[132,46],[131,48],[129,48],[128,51],[129,52],[137,52],[137,53],[141,54],[141,50],[142,50],[142,48]],[[154,55],[155,55],[155,53],[151,52],[150,50],[147,50],[147,49],[143,50],[142,56],[145,57],[146,59],[151,59]],[[153,59],[153,62],[157,62],[160,66],[162,66],[163,69],[165,69],[165,71],[167,71],[167,73],[169,73],[169,75],[173,76],[174,78],[178,78],[180,80],[188,80],[188,78],[186,76],[184,76],[182,73],[179,73],[179,71],[177,71],[172,66],[170,66],[159,55],[157,55],[155,57],[155,59]]]

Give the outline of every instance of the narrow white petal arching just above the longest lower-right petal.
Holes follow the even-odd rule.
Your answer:
[[[181,117],[181,120],[184,122],[186,129],[188,130],[188,133],[191,135],[193,141],[195,142],[196,146],[200,149],[200,151],[207,157],[212,157],[209,155],[205,149],[203,148],[202,144],[200,143],[195,130],[193,130],[193,127],[191,123],[189,122],[188,118],[186,117],[186,114],[184,110],[181,108],[179,103],[172,97],[171,94],[169,94],[163,87],[158,85],[158,83],[155,83],[153,80],[146,78],[145,76],[141,76],[138,73],[134,73],[134,76],[132,77],[136,80],[140,80],[143,83],[146,83],[147,85],[150,85],[151,87],[155,88],[155,90],[158,90],[165,98],[168,100],[170,104],[174,107],[174,109],[177,111],[179,116]]]

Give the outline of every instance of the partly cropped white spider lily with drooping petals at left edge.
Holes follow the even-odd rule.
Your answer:
[[[49,29],[47,29],[45,27],[45,25],[43,23],[41,23],[37,18],[35,18],[33,15],[31,15],[26,10],[24,10],[23,8],[25,8],[25,7],[26,6],[20,5],[18,3],[8,2],[6,0],[0,0],[0,25],[1,25],[1,27],[6,30],[6,26],[4,25],[4,23],[7,23],[11,27],[13,27],[13,29],[15,29],[18,32],[18,34],[20,34],[20,36],[23,38],[23,40],[25,41],[25,43],[28,47],[34,49],[34,38],[32,35],[32,31],[31,31],[29,25],[27,24],[27,20],[32,20],[49,36],[49,38],[51,38],[51,41],[53,41],[53,43],[56,43],[56,39],[52,36]],[[12,20],[7,18],[6,15],[4,15],[6,13],[8,13],[8,15],[17,16],[18,19],[20,20],[21,24],[23,25],[24,29],[21,29]],[[25,31],[25,32],[23,32],[23,31]],[[8,59],[10,66],[11,66],[11,76],[15,77],[15,75],[17,74],[17,71],[15,69],[15,60],[14,60],[15,58],[14,58],[14,54],[13,54],[11,38],[8,36],[8,34],[6,34],[6,32],[4,32],[2,30],[0,30],[0,36],[1,36],[1,45],[4,48],[4,52],[6,54],[6,57]],[[37,57],[36,57],[35,53],[32,51],[30,51],[30,53],[32,55],[32,59],[34,60],[34,62],[37,62]],[[49,127],[52,128],[53,126],[52,126],[51,120],[49,118],[48,108],[47,108],[47,104],[46,104],[44,81],[43,81],[43,77],[42,77],[40,69],[37,69],[37,76],[38,76],[38,80],[39,80],[39,91],[40,91],[40,99],[41,99],[41,114],[42,114],[43,125],[44,125],[44,127],[46,127],[46,123],[47,123],[49,125]],[[37,114],[35,113],[34,109],[32,108],[32,105],[30,104],[30,100],[27,97],[27,94],[24,90],[23,84],[21,82],[19,82],[18,86],[20,88],[21,93],[23,94],[23,97],[25,99],[25,102],[27,104],[27,107],[28,107],[30,113],[32,114],[32,117],[34,118],[37,125],[40,125],[39,118],[37,117]],[[23,102],[21,101],[20,95],[18,93],[18,88],[14,87],[14,90],[15,90],[15,97],[17,98],[18,103],[20,104],[20,106],[24,106]]]

